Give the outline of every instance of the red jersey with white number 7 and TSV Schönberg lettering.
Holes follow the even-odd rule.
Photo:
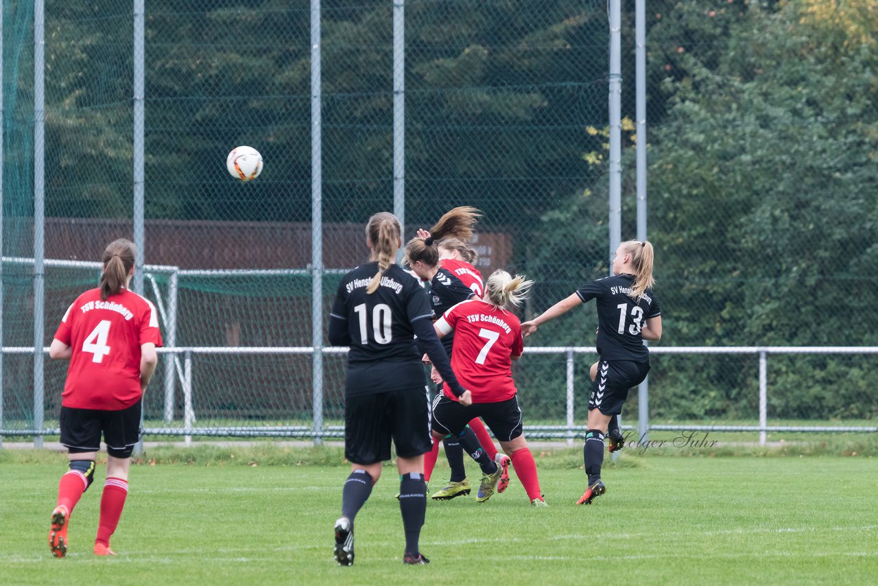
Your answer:
[[[472,394],[474,403],[507,401],[515,396],[512,357],[522,355],[522,323],[506,311],[483,300],[466,300],[446,311],[435,322],[446,335],[454,330],[451,368]],[[443,392],[457,401],[448,385]]]

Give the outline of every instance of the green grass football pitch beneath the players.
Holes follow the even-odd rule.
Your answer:
[[[427,567],[403,567],[393,467],[356,519],[356,563],[332,558],[348,474],[341,452],[266,447],[148,452],[112,546],[91,553],[103,468],[77,505],[70,553],[46,534],[66,459],[0,452],[0,583],[867,583],[878,576],[872,457],[625,454],[608,494],[578,506],[578,450],[537,456],[547,509],[506,493],[428,503]],[[234,454],[234,457],[233,457]],[[153,463],[153,465],[150,465]],[[474,471],[471,463],[468,469]],[[438,468],[434,487],[447,475]],[[474,472],[471,474],[475,475]]]

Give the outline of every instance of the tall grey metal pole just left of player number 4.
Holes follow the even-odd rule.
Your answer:
[[[46,309],[46,4],[33,3],[33,436],[43,446]]]

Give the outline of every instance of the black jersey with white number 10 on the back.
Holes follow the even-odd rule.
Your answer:
[[[378,263],[367,263],[346,274],[330,313],[330,319],[347,322],[349,395],[423,387],[425,382],[412,324],[432,317],[427,293],[397,264],[387,268],[375,293],[366,293],[377,272]]]

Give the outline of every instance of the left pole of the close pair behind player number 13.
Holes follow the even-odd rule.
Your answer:
[[[609,267],[622,243],[622,0],[609,0]],[[622,425],[622,416],[619,416]],[[613,454],[617,459],[619,453]]]

